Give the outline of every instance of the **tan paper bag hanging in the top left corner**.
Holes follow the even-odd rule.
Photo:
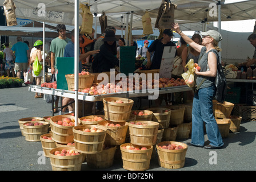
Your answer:
[[[5,10],[5,17],[7,26],[17,25],[15,9],[16,6],[12,0],[5,0],[3,2],[3,9]]]

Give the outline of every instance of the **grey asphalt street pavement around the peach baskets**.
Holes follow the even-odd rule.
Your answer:
[[[21,135],[18,119],[26,117],[45,117],[51,115],[51,104],[43,98],[34,98],[35,93],[29,87],[0,89],[0,171],[51,171],[50,158],[42,160],[41,142],[27,142]],[[134,98],[137,109],[137,98]],[[142,100],[142,106],[148,106]],[[55,114],[56,115],[56,114]],[[185,166],[180,169],[162,168],[157,155],[151,159],[147,172],[154,171],[255,171],[255,121],[242,122],[238,133],[229,133],[223,138],[224,146],[217,150],[207,150],[189,146]],[[178,139],[187,143],[191,138]],[[205,134],[205,141],[207,135]],[[122,159],[115,158],[113,166],[106,169],[89,168],[82,164],[81,171],[126,171]],[[180,176],[182,177],[182,176]]]

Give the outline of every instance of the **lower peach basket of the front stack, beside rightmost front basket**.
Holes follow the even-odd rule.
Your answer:
[[[146,147],[147,150],[127,150],[123,148],[128,145],[138,147],[131,143],[121,144],[120,150],[122,154],[123,168],[129,171],[145,171],[146,169],[149,169],[153,146],[143,146]]]

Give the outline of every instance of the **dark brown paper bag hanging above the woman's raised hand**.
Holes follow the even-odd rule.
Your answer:
[[[177,5],[174,5],[171,2],[167,3],[165,1],[162,1],[162,4],[158,9],[155,28],[159,28],[159,29],[171,28],[171,24],[174,23],[175,9],[177,9]]]

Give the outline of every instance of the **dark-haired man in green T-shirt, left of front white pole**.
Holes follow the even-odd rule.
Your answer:
[[[66,26],[65,24],[57,24],[57,32],[59,36],[51,41],[50,52],[51,52],[51,74],[55,73],[56,59],[57,57],[63,57],[65,47],[71,39],[66,37]],[[58,112],[59,97],[55,101],[54,113]]]

